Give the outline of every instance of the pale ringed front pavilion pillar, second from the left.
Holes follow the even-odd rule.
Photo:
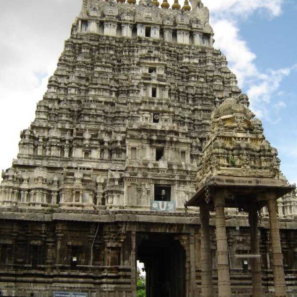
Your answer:
[[[228,247],[225,221],[225,198],[222,193],[214,197],[215,227],[217,242],[217,269],[218,269],[218,297],[231,297],[231,284],[228,260]]]

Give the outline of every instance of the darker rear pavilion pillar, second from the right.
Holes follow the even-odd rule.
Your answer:
[[[258,237],[258,213],[255,207],[251,207],[248,212],[248,221],[250,226],[250,253],[260,254]],[[261,259],[250,258],[251,263],[251,283],[252,297],[262,296],[262,277],[261,277]]]

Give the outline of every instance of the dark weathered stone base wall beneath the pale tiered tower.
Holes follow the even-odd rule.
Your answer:
[[[201,251],[200,225],[196,216],[160,215],[158,213],[65,212],[56,214],[19,213],[2,215],[0,240],[0,290],[2,296],[52,296],[53,292],[83,292],[88,296],[134,296],[136,260],[145,263],[146,271],[154,259],[164,258],[164,274],[170,282],[170,264],[179,253],[170,254],[173,243],[183,251],[183,295],[200,296]],[[39,221],[32,220],[39,217]],[[85,217],[88,217],[86,220]],[[151,222],[153,221],[153,223]],[[210,219],[211,255],[214,292],[217,294],[216,241],[214,215]],[[232,296],[250,296],[250,235],[247,217],[238,214],[227,223]],[[280,224],[288,296],[296,296],[296,222]],[[142,242],[164,240],[158,254],[145,255]],[[259,224],[263,296],[273,295],[272,253],[268,220]],[[246,257],[245,257],[246,255]],[[158,261],[161,261],[158,259]],[[167,265],[167,266],[166,266]],[[181,269],[182,271],[182,269]],[[181,273],[179,271],[179,273]],[[155,272],[154,272],[155,273]],[[172,276],[171,276],[172,277]],[[175,282],[174,282],[175,284]],[[167,290],[167,291],[166,291]],[[31,295],[31,294],[34,295]],[[160,293],[161,294],[161,293]],[[161,296],[155,293],[150,296]],[[215,295],[217,296],[217,295]]]

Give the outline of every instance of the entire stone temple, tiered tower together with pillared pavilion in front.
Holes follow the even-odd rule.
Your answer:
[[[0,296],[136,297],[137,261],[147,297],[297,296],[295,186],[182,5],[83,0],[2,171]]]

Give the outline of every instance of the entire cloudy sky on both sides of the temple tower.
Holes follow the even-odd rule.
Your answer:
[[[169,1],[170,2],[170,1]],[[181,2],[181,0],[180,0]],[[297,182],[297,0],[204,0],[216,48]],[[182,3],[181,3],[182,4]],[[0,168],[34,119],[81,0],[0,0]]]

